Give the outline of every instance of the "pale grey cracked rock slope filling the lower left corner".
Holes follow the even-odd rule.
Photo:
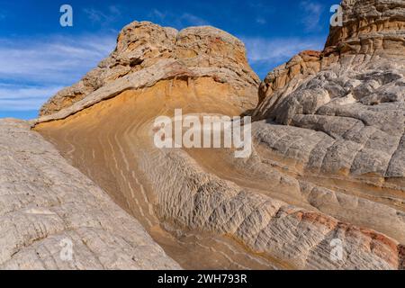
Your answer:
[[[1,120],[0,148],[0,269],[180,268],[28,123]]]

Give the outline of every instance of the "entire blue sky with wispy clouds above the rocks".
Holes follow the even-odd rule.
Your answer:
[[[212,25],[243,40],[260,77],[303,49],[322,49],[339,0],[0,0],[0,118],[35,118],[40,105],[108,56],[132,21]],[[59,8],[73,7],[73,27]]]

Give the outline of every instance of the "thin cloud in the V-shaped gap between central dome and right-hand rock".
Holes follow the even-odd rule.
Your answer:
[[[275,67],[293,58],[302,50],[323,49],[323,38],[275,38],[240,37],[247,48],[250,65],[261,77],[266,76]]]

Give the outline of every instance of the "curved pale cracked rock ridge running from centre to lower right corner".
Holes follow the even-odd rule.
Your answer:
[[[278,259],[280,268],[401,268],[398,242],[378,232],[221,180],[205,173],[185,154],[169,151],[153,157],[167,166],[158,166],[150,158],[143,164],[155,186],[162,220],[235,238],[254,253]],[[175,177],[174,169],[178,171]],[[280,191],[282,184],[274,189]],[[338,260],[331,257],[334,239],[342,243],[343,256]]]

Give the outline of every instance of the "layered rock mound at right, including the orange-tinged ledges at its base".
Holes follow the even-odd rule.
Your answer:
[[[331,189],[311,188],[320,211],[404,243],[405,2],[342,7],[344,25],[322,52],[300,53],[260,85],[257,151],[262,163]]]

